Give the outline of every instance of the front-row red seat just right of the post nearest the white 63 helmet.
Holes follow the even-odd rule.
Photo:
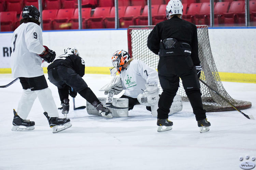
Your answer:
[[[223,13],[228,11],[229,2],[216,2],[214,6],[214,25],[224,22]]]

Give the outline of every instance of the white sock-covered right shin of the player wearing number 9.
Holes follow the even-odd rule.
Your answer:
[[[51,89],[47,87],[42,90],[37,90],[36,92],[44,112],[47,112],[49,117],[59,117]]]

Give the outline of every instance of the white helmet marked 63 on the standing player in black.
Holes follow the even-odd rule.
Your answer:
[[[166,18],[170,19],[171,15],[181,14],[183,12],[183,5],[180,0],[170,0],[166,6]]]

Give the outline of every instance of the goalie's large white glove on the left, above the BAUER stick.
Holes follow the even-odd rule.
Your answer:
[[[110,83],[103,86],[100,91],[105,91],[104,94],[107,95],[108,92],[113,92],[115,95],[119,94],[123,90],[122,81],[120,76],[115,76]]]

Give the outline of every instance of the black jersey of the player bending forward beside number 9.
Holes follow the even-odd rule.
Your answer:
[[[85,62],[83,58],[77,56],[77,55],[67,55],[63,54],[56,58],[52,64],[50,64],[47,67],[47,70],[54,68],[58,65],[64,65],[71,69],[73,69],[77,74],[79,74],[81,77],[84,76],[85,71]]]

